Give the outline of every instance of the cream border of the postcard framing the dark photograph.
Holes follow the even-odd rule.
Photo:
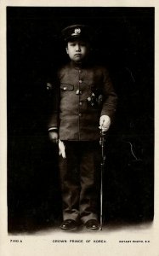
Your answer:
[[[7,107],[6,107],[6,6],[101,6],[101,7],[155,7],[156,22],[156,48],[155,48],[155,219],[149,227],[137,227],[136,229],[122,228],[106,233],[99,232],[98,235],[90,234],[64,234],[58,235],[62,239],[104,239],[106,244],[54,244],[53,239],[57,239],[54,233],[39,234],[38,236],[8,236],[7,232]],[[159,108],[159,92],[157,88],[159,55],[158,55],[158,16],[159,3],[157,0],[138,0],[138,1],[52,1],[52,0],[17,0],[0,1],[0,254],[3,256],[39,256],[39,255],[134,255],[134,256],[158,256],[159,255],[159,159],[157,148],[159,143],[159,120],[157,110]],[[21,239],[23,242],[16,244],[10,243],[10,239]],[[119,244],[119,240],[150,240],[149,244]]]

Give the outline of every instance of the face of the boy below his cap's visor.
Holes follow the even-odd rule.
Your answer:
[[[82,40],[69,41],[66,47],[66,53],[71,61],[81,62],[89,53],[88,42]]]

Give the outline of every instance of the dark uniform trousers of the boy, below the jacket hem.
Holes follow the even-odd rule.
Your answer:
[[[82,223],[98,218],[99,142],[64,142],[66,159],[60,156],[63,218]]]

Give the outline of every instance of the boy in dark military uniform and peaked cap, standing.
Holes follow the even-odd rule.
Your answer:
[[[60,182],[64,219],[60,228],[75,229],[82,222],[86,228],[98,230],[99,129],[107,131],[111,125],[116,93],[105,67],[89,61],[88,26],[68,26],[62,36],[71,61],[58,73],[60,86],[48,125],[50,139],[63,146]]]

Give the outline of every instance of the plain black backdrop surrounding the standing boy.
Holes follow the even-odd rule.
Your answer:
[[[7,8],[9,231],[40,230],[61,220],[46,84],[54,84],[67,61],[60,30],[77,23],[92,27],[94,59],[108,67],[119,97],[105,145],[104,222],[153,219],[154,11]]]

